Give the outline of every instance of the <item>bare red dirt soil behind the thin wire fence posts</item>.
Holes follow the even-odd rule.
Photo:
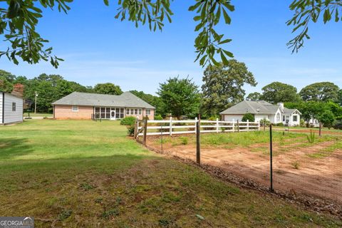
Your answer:
[[[342,204],[342,151],[336,150],[328,157],[308,156],[331,143],[322,142],[312,147],[299,147],[292,149],[291,152],[281,152],[275,155],[273,157],[274,189],[332,199]],[[153,138],[149,138],[147,145],[160,150],[160,144],[157,144],[157,140]],[[194,144],[172,146],[167,143],[163,147],[171,155],[196,160],[196,145]],[[276,149],[275,146],[275,151]],[[269,185],[270,182],[269,155],[252,152],[249,148],[226,149],[204,146],[201,148],[201,162],[221,167],[227,172],[250,178],[262,185]]]

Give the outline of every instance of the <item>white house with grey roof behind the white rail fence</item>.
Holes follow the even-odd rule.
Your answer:
[[[301,119],[299,110],[285,108],[284,103],[272,105],[264,100],[244,100],[219,114],[222,116],[222,120],[242,121],[242,117],[246,113],[252,113],[255,121],[266,119],[271,123],[283,123],[284,125],[289,124],[290,126],[299,125]]]

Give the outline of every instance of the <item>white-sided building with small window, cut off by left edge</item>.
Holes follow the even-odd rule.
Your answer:
[[[23,121],[23,98],[0,91],[0,125]]]

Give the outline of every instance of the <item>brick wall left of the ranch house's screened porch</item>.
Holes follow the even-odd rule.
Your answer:
[[[73,112],[73,105],[55,105],[54,118],[58,120],[90,120],[94,112],[93,106],[78,106],[78,112]]]

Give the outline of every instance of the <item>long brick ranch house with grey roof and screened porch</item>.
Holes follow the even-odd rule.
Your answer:
[[[53,118],[90,120],[96,118],[117,120],[126,116],[142,119],[146,115],[154,120],[155,107],[144,100],[125,92],[121,95],[73,92],[53,105]]]

